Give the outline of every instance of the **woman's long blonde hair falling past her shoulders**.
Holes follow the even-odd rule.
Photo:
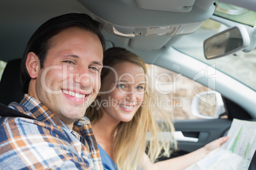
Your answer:
[[[131,62],[142,67],[146,74],[146,66],[143,60],[138,56],[124,48],[110,48],[105,51],[103,59],[103,70],[101,72],[101,82],[110,73],[107,67],[114,67],[118,63]],[[174,148],[176,141],[171,135],[169,139],[161,139],[160,131],[174,131],[174,126],[166,115],[162,114],[166,121],[155,122],[153,120],[152,109],[150,109],[148,94],[148,86],[145,87],[144,100],[146,102],[139,107],[138,111],[129,122],[120,122],[114,134],[113,156],[118,169],[139,169],[141,166],[141,158],[148,150],[148,157],[152,162],[160,156],[169,157]],[[100,100],[100,98],[96,98]],[[97,122],[103,116],[101,107],[90,106],[87,108],[85,116],[87,116],[92,124]],[[99,109],[97,109],[99,108]],[[150,138],[147,138],[150,136]],[[170,140],[173,141],[170,143]],[[173,148],[173,149],[170,149]]]

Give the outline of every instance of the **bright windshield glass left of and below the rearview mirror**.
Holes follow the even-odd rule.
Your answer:
[[[229,55],[213,60],[206,60],[204,58],[204,39],[224,29],[227,29],[225,25],[213,20],[207,20],[194,34],[181,37],[173,47],[182,53],[193,56],[204,63],[208,63],[208,65],[214,64],[218,70],[234,77],[234,79],[237,79],[256,91],[256,49],[250,53],[239,51],[239,53],[236,53],[236,56]],[[184,46],[184,42],[189,45]]]

